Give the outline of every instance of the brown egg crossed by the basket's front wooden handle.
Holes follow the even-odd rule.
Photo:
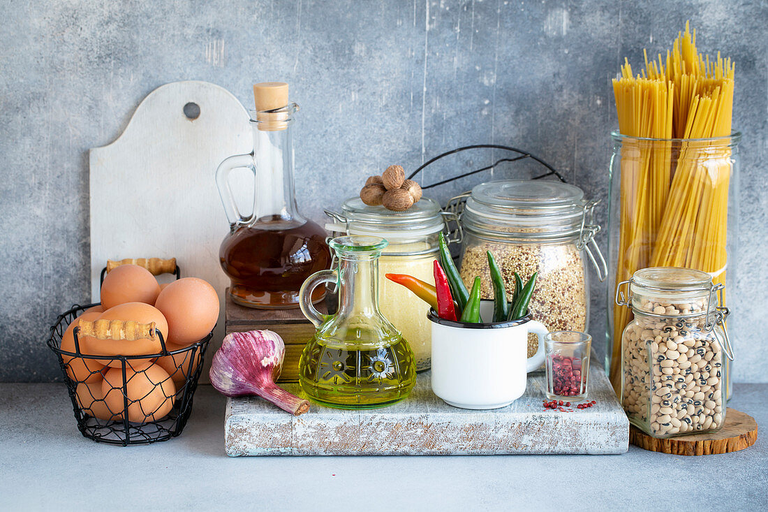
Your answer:
[[[118,267],[119,268],[119,267]],[[117,269],[115,269],[117,270]],[[150,306],[142,302],[127,302],[126,304],[120,304],[114,308],[110,308],[104,311],[99,318],[106,320],[133,320],[140,324],[155,323],[155,327],[160,329],[163,337],[168,335],[168,323],[165,320],[163,314]],[[143,338],[140,340],[128,341],[128,340],[98,340],[95,337],[84,337],[83,344],[88,350],[88,354],[95,355],[124,355],[135,356],[143,354],[159,354],[162,351],[162,345],[159,337],[154,339]],[[139,364],[140,362],[149,362],[151,359],[144,360],[130,360],[133,364]],[[108,366],[120,367],[121,361],[114,360],[108,361]]]

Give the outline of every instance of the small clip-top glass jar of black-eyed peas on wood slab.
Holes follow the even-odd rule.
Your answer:
[[[644,268],[617,287],[617,304],[634,313],[621,337],[621,404],[631,424],[653,437],[725,423],[725,358],[733,361],[733,351],[722,288],[710,274],[670,267]]]

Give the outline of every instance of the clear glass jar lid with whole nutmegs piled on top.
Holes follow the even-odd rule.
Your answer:
[[[406,211],[369,206],[360,198],[350,198],[343,202],[340,214],[326,214],[336,221],[326,224],[329,231],[376,235],[390,241],[427,237],[445,227],[440,205],[430,198],[421,198]]]

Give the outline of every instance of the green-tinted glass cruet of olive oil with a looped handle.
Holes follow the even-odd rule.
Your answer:
[[[329,242],[338,267],[304,281],[301,310],[317,327],[299,360],[299,383],[310,399],[342,409],[370,409],[407,397],[416,383],[408,341],[379,311],[379,237],[346,236]],[[336,314],[320,314],[315,288],[335,283]]]

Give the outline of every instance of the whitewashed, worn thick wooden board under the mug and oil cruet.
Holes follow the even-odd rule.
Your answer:
[[[411,395],[381,409],[346,411],[312,404],[291,416],[259,397],[230,398],[224,445],[247,455],[623,454],[629,421],[598,364],[590,367],[594,407],[544,411],[545,375],[528,375],[525,395],[492,411],[468,411],[432,394],[429,371]],[[303,393],[298,384],[285,384]],[[306,395],[303,395],[306,397]]]

